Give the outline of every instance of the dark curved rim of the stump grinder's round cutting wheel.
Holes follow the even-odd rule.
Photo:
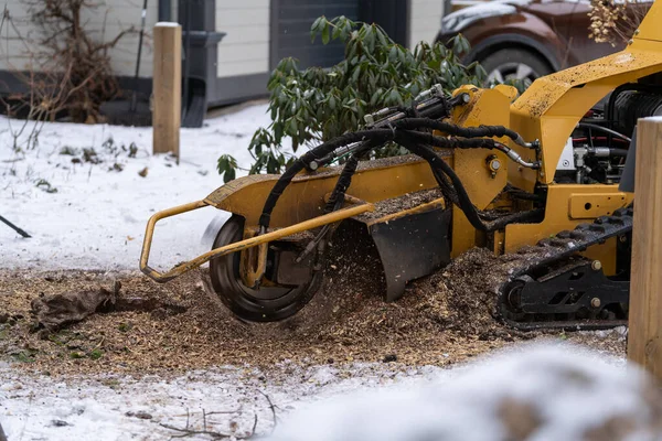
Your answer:
[[[241,240],[244,218],[233,215],[218,232],[212,249]],[[295,288],[247,288],[239,277],[239,254],[222,256],[210,261],[212,288],[239,319],[249,322],[285,320],[303,308],[321,287],[322,271]]]

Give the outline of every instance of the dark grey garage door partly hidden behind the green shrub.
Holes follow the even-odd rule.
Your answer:
[[[271,0],[271,54],[274,68],[286,56],[299,60],[299,67],[329,67],[343,58],[344,45],[310,41],[310,25],[321,15],[345,15],[359,20],[360,0]]]

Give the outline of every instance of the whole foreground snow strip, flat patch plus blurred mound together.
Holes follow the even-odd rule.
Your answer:
[[[255,418],[256,433],[269,434],[275,412],[278,441],[597,440],[611,420],[639,431],[629,439],[652,440],[645,431],[662,417],[639,370],[565,343],[522,344],[452,369],[285,362],[171,379],[0,377],[0,421],[12,441],[161,440],[178,434],[162,424],[203,430],[203,411],[207,431],[237,438]],[[513,431],[527,434],[505,437]],[[589,432],[598,437],[581,437]]]

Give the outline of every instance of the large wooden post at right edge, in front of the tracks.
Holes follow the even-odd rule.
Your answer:
[[[637,127],[628,358],[662,379],[662,118]]]

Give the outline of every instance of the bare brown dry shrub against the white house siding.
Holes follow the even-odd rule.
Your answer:
[[[7,9],[4,13],[30,60],[26,69],[12,69],[29,92],[12,97],[11,110],[36,120],[67,116],[74,122],[97,122],[100,105],[118,93],[108,51],[122,36],[135,32],[134,28],[105,41],[107,11],[98,11],[99,3],[24,0],[23,4],[35,36],[22,35]],[[85,12],[104,18],[98,37],[84,19]]]

